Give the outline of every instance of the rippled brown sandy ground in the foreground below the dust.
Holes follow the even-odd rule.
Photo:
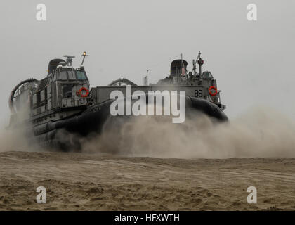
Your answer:
[[[295,210],[295,159],[0,153],[0,210]],[[47,203],[36,203],[46,187]],[[258,203],[247,203],[256,186]]]

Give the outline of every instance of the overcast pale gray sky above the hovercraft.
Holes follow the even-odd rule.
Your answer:
[[[47,20],[36,20],[37,4]],[[247,4],[258,20],[247,20]],[[45,77],[48,61],[64,54],[81,63],[91,86],[119,77],[142,84],[169,74],[170,62],[202,51],[222,89],[225,113],[236,117],[252,105],[268,105],[295,119],[295,1],[0,1],[0,120],[8,120],[8,96],[28,77]],[[8,121],[6,121],[8,123]]]

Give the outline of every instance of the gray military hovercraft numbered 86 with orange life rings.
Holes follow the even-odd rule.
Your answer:
[[[126,85],[131,86],[132,93],[144,91],[147,101],[149,91],[160,95],[163,91],[185,91],[186,112],[204,113],[218,122],[227,121],[228,117],[223,113],[225,105],[221,104],[221,91],[217,89],[211,72],[202,72],[204,60],[200,55],[199,52],[197,59],[193,60],[190,72],[187,61],[182,58],[173,60],[170,75],[157,84],[147,84],[146,76],[143,86],[129,79],[117,79],[108,86],[91,89],[84,68],[86,52],[82,54],[79,67],[72,66],[74,56],[65,56],[66,60],[53,59],[48,64],[48,75],[44,79],[26,79],[11,91],[8,128],[25,129],[41,146],[60,150],[79,149],[79,141],[69,143],[60,136],[60,132],[87,136],[103,131],[106,122],[114,118],[110,114],[110,105],[115,100],[110,99],[110,94],[115,90],[122,91],[124,98],[128,98]],[[196,64],[199,65],[198,72]]]

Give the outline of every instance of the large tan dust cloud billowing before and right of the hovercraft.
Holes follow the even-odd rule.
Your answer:
[[[84,152],[153,158],[294,158],[295,124],[270,108],[252,108],[216,124],[205,115],[136,117],[83,141]]]

